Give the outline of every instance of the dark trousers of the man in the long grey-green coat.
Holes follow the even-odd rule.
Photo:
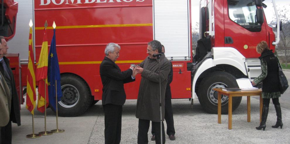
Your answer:
[[[147,144],[148,143],[148,130],[150,126],[150,120],[139,119],[138,124],[138,144]],[[154,129],[155,133],[155,143],[161,144],[160,139],[160,122],[152,121],[152,129]],[[164,123],[162,122],[162,143],[165,143],[165,131],[164,131]]]

